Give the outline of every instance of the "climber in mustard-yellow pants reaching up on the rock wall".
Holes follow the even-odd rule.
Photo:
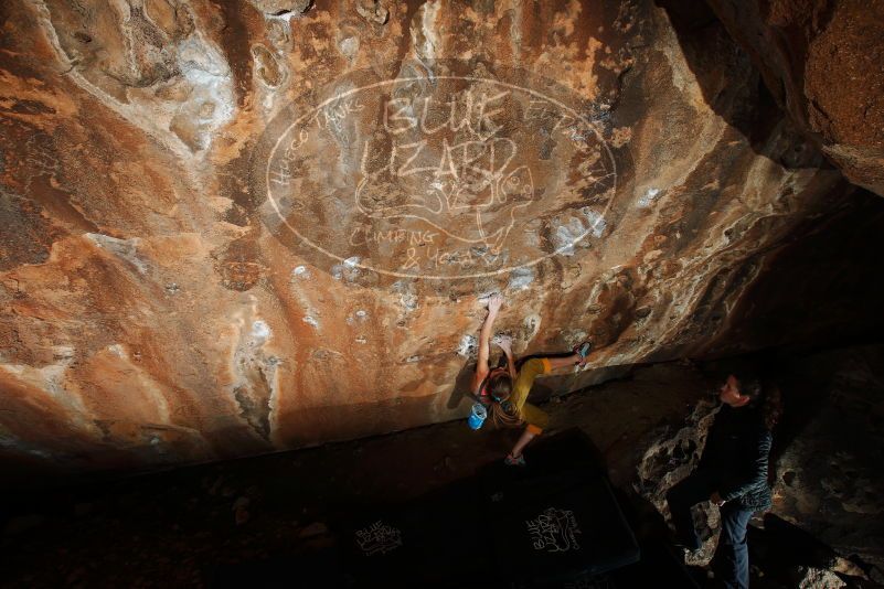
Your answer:
[[[525,459],[522,450],[543,431],[550,420],[546,413],[526,403],[534,378],[539,374],[546,374],[572,364],[584,366],[590,345],[588,342],[584,342],[567,356],[531,358],[516,371],[515,358],[512,355],[512,340],[508,336],[500,336],[496,338],[496,343],[503,350],[507,365],[489,370],[491,333],[502,304],[503,297],[500,294],[493,294],[488,301],[488,317],[482,323],[479,335],[479,360],[472,378],[472,392],[480,403],[490,407],[496,426],[520,427],[525,424],[525,430],[504,460],[511,467],[524,465]]]

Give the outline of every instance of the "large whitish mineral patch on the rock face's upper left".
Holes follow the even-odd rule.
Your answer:
[[[110,35],[126,47],[125,62],[116,69],[107,69],[102,61],[81,56],[73,41],[62,42],[53,21],[53,15],[62,12],[60,6],[38,0],[33,7],[51,45],[68,68],[66,75],[179,157],[204,150],[211,133],[232,120],[235,106],[230,67],[199,29],[194,29],[192,20],[177,23],[177,30],[169,35],[142,9],[123,2],[109,10],[102,6],[84,9],[84,18],[96,25],[96,34]],[[102,26],[106,21],[96,24],[89,20],[97,19],[99,13],[102,19],[115,20],[111,29]],[[68,24],[58,22],[60,26]],[[90,35],[87,39],[84,44],[96,41]],[[175,39],[178,44],[172,45]],[[100,40],[97,38],[96,42]],[[161,50],[151,52],[156,43],[161,44]],[[142,47],[148,51],[139,53]],[[104,82],[107,78],[113,82]]]

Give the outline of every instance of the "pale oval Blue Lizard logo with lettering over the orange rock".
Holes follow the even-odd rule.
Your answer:
[[[582,115],[592,106],[516,69],[433,72],[354,72],[280,111],[253,158],[267,227],[338,279],[515,276],[515,288],[530,275],[513,270],[601,237],[617,164],[607,124]]]

